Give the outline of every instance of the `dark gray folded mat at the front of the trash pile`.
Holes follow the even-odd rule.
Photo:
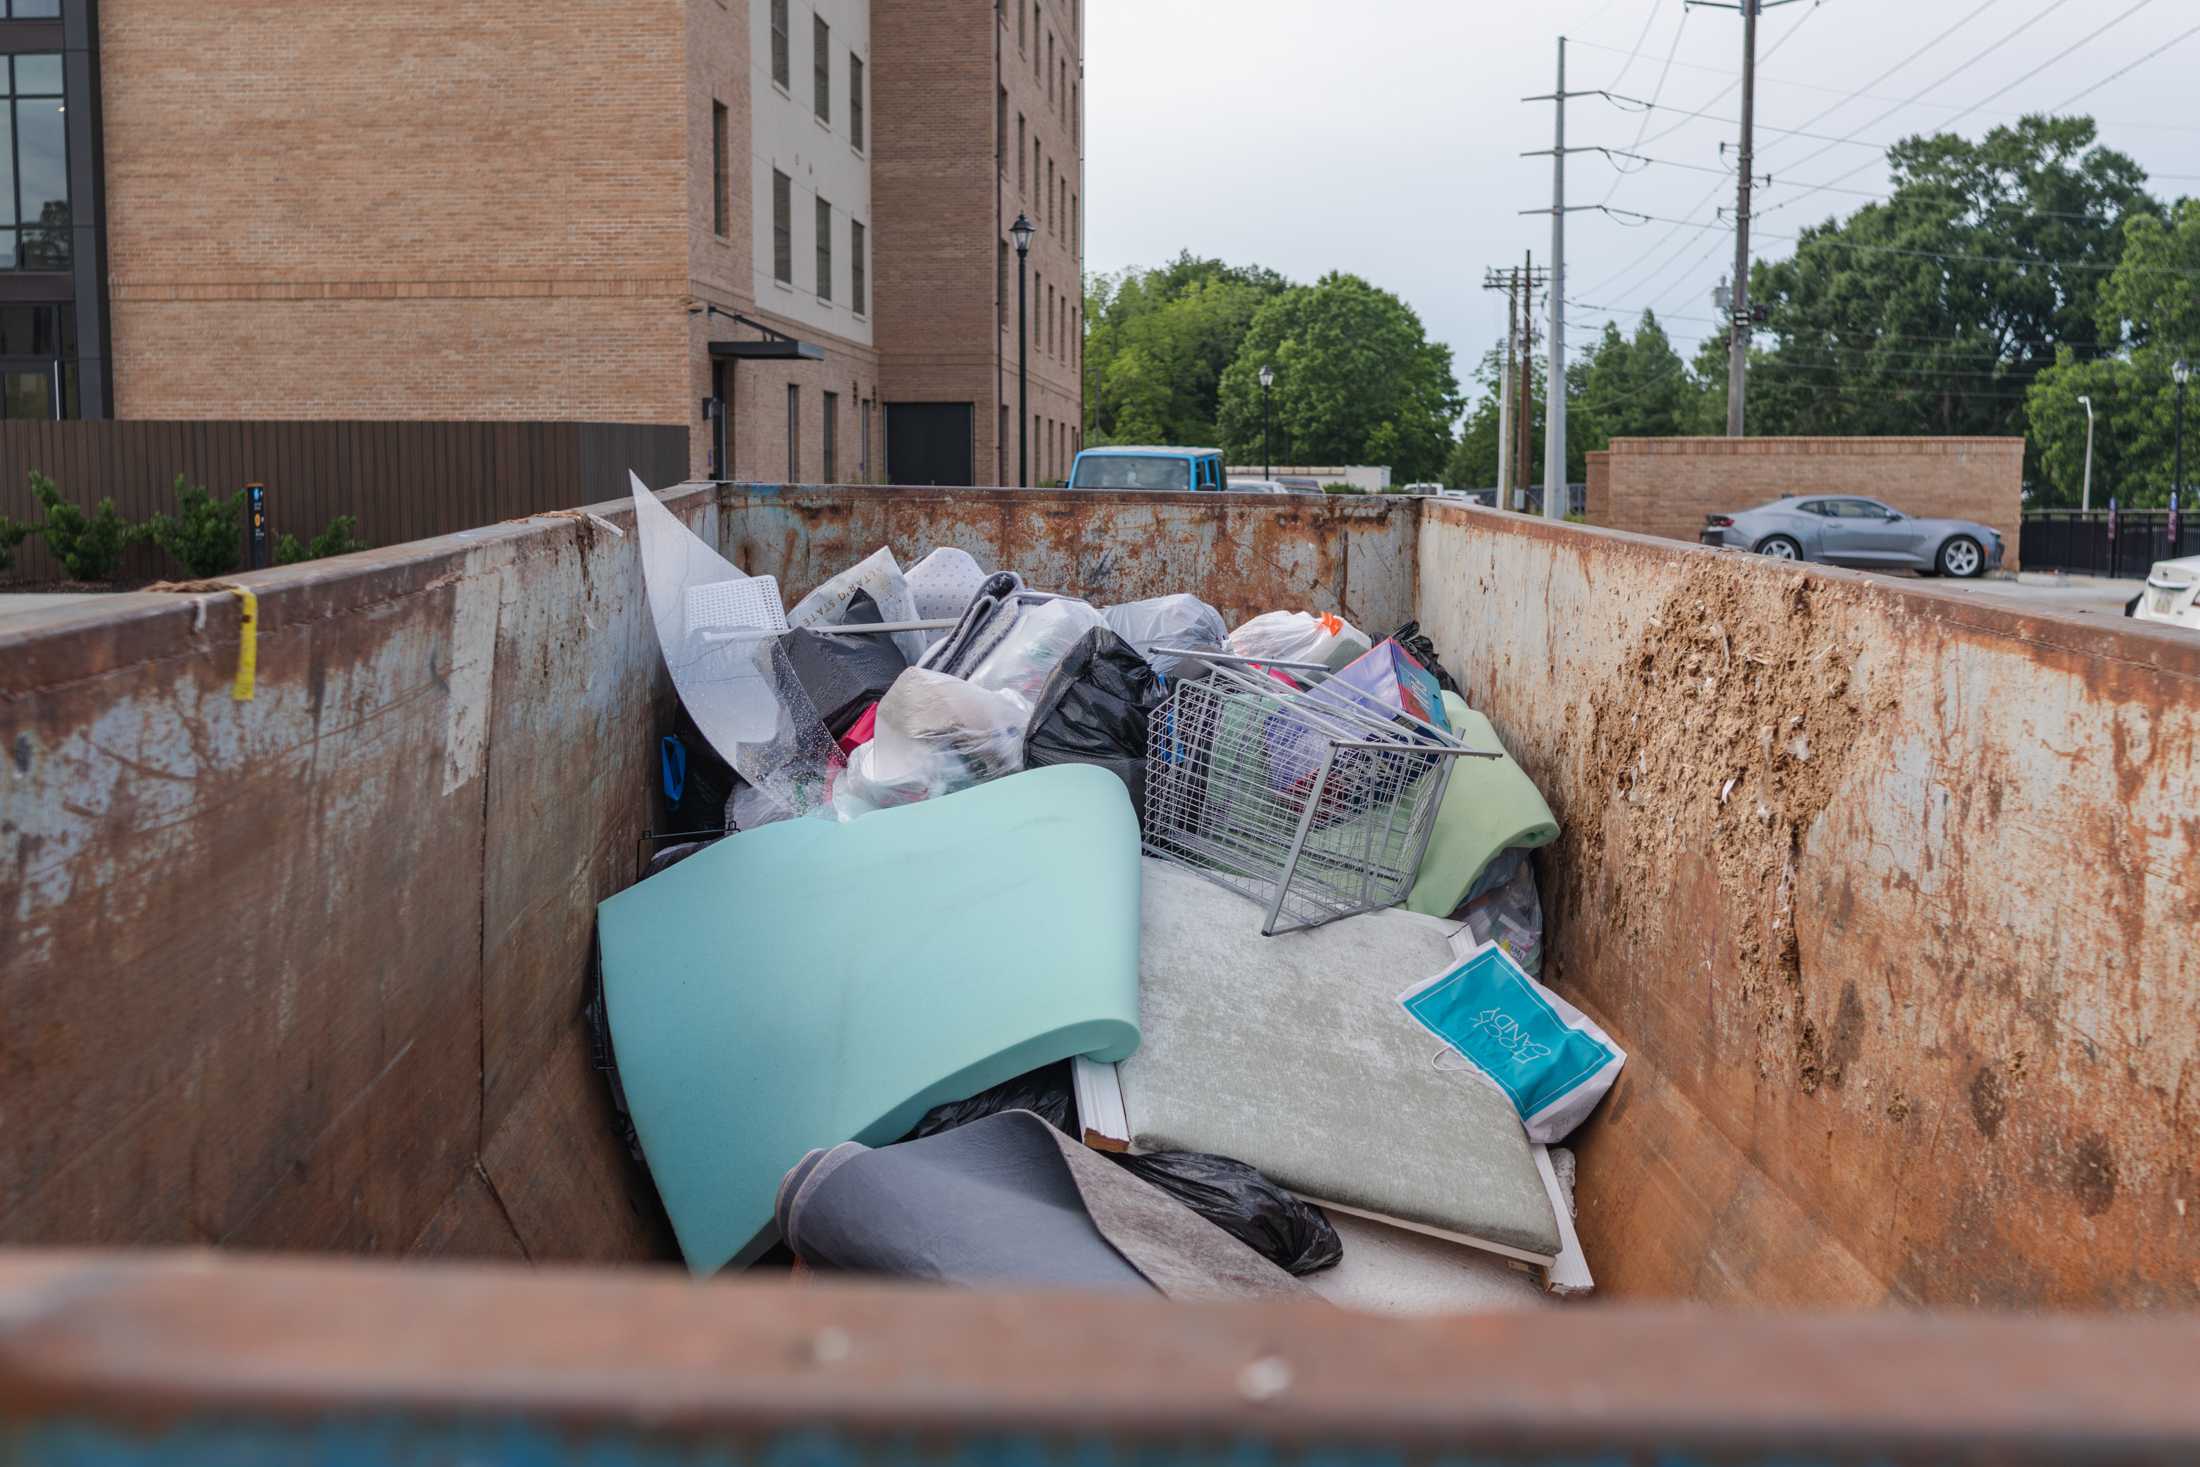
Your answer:
[[[1313,1298],[1030,1111],[878,1150],[814,1150],[779,1185],[779,1232],[818,1267],[948,1284]]]

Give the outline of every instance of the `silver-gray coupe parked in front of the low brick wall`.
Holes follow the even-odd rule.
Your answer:
[[[1912,519],[1850,495],[1795,495],[1738,515],[1705,515],[1698,539],[1775,561],[1819,561],[1921,576],[1982,576],[2002,565],[2002,534],[1971,519]]]

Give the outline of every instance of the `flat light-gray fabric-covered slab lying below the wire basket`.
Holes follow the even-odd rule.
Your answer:
[[[1258,906],[1153,858],[1142,911],[1144,1040],[1118,1067],[1133,1150],[1221,1152],[1300,1196],[1558,1254],[1511,1102],[1397,1003],[1452,966],[1452,924],[1261,937]]]

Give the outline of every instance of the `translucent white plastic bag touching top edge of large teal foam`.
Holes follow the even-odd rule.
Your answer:
[[[913,666],[878,702],[878,732],[834,785],[834,814],[915,805],[1023,768],[1032,704]]]

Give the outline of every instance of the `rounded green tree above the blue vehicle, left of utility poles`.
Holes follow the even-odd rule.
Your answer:
[[[1452,350],[1388,290],[1331,273],[1261,306],[1221,378],[1217,427],[1236,462],[1261,455],[1263,365],[1280,462],[1388,464],[1406,484],[1443,471],[1461,407]]]

